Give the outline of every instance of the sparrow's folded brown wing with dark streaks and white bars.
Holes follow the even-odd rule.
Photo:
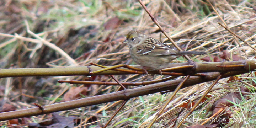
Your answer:
[[[173,55],[176,54],[170,46],[154,38],[149,37],[144,43],[136,46],[137,54],[149,56]]]

